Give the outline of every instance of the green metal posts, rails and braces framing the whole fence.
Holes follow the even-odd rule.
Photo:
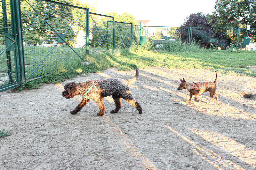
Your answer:
[[[14,52],[14,63],[15,63],[15,76],[16,76],[16,78],[15,78],[15,81],[14,82],[12,82],[13,81],[13,78],[12,78],[12,73],[10,73],[10,71],[12,72],[12,67],[10,66],[10,65],[8,65],[9,63],[8,63],[8,53],[6,52],[6,59],[7,59],[7,70],[8,70],[8,81],[9,81],[9,85],[4,85],[4,86],[2,86],[2,87],[0,87],[0,92],[3,92],[3,91],[5,91],[5,90],[8,90],[8,89],[11,89],[11,88],[13,88],[13,87],[17,87],[17,86],[23,86],[24,85],[24,83],[26,82],[26,81],[30,81],[30,80],[33,80],[33,79],[36,79],[36,78],[40,78],[40,77],[42,77],[43,75],[45,75],[45,74],[49,74],[49,73],[45,73],[45,74],[43,74],[43,75],[39,75],[39,76],[37,76],[37,77],[35,77],[35,78],[32,78],[32,79],[29,79],[29,77],[33,74],[33,72],[31,73],[31,75],[26,79],[26,68],[25,68],[25,54],[24,54],[24,46],[23,46],[23,42],[24,42],[24,40],[23,40],[23,32],[22,32],[22,18],[21,18],[21,7],[20,7],[20,0],[2,0],[2,6],[4,5],[3,3],[4,2],[6,2],[6,1],[9,1],[10,2],[10,6],[11,6],[11,25],[12,25],[12,35],[13,35],[13,46],[14,46],[14,49],[13,49],[13,52]],[[26,0],[25,0],[26,1]],[[54,4],[59,4],[59,5],[63,5],[63,6],[68,6],[68,7],[72,7],[72,8],[76,8],[76,9],[81,9],[81,10],[86,10],[86,21],[85,21],[85,23],[86,23],[86,26],[85,26],[85,55],[86,55],[86,60],[88,60],[89,59],[89,39],[90,39],[90,37],[89,37],[89,34],[90,34],[90,14],[93,14],[93,15],[97,15],[97,16],[102,16],[102,17],[109,17],[109,18],[112,18],[112,20],[111,21],[107,21],[107,30],[106,30],[106,33],[107,33],[107,35],[109,35],[108,34],[108,31],[109,31],[109,29],[108,29],[108,27],[110,26],[109,25],[109,23],[112,23],[113,24],[113,34],[112,34],[112,36],[113,36],[113,38],[112,38],[112,50],[115,52],[115,49],[120,49],[121,48],[121,46],[122,46],[122,44],[124,43],[124,39],[125,38],[127,38],[127,35],[130,33],[130,42],[128,42],[128,41],[126,41],[126,44],[128,43],[130,43],[130,45],[129,45],[129,48],[132,48],[132,43],[133,43],[133,41],[135,42],[135,39],[136,39],[136,26],[138,26],[138,25],[133,25],[132,23],[126,23],[126,22],[119,22],[119,21],[115,21],[115,18],[114,17],[112,17],[112,16],[108,16],[108,15],[102,15],[102,14],[97,14],[97,13],[93,13],[93,12],[90,12],[89,11],[89,8],[83,8],[83,7],[79,7],[79,6],[74,6],[74,5],[70,5],[70,4],[64,4],[64,3],[60,3],[60,2],[56,2],[56,1],[52,1],[52,0],[35,0],[35,1],[38,1],[38,2],[40,2],[40,1],[43,1],[43,2],[46,2],[46,3],[54,3]],[[27,1],[26,1],[27,2]],[[29,3],[28,3],[29,4]],[[33,8],[33,7],[32,7]],[[85,12],[85,11],[84,11]],[[4,19],[4,17],[6,18],[6,15],[5,15],[5,13],[6,13],[6,9],[5,9],[5,12],[4,12],[4,8],[3,8],[3,20],[7,20],[7,19]],[[40,14],[39,14],[40,15]],[[83,15],[83,14],[82,14]],[[81,16],[82,16],[81,15]],[[81,17],[80,16],[80,17]],[[42,17],[42,16],[41,16]],[[42,17],[43,18],[43,17]],[[43,18],[44,19],[44,18]],[[78,18],[77,18],[78,19]],[[4,22],[4,21],[3,21]],[[46,21],[45,21],[46,22]],[[76,22],[76,21],[75,21]],[[6,22],[7,23],[7,22]],[[122,42],[121,42],[121,45],[120,45],[120,47],[116,47],[116,43],[115,43],[115,41],[116,41],[116,26],[117,26],[117,24],[116,23],[120,23],[120,24],[124,24],[124,25],[126,25],[126,28],[124,29],[125,30],[125,32],[124,32],[124,30],[122,30],[123,32],[124,32],[124,34],[122,33],[120,33],[120,37],[121,37],[121,39],[122,39]],[[5,29],[5,26],[4,26],[4,24],[5,23],[3,23],[3,29]],[[6,25],[7,26],[7,25]],[[50,26],[50,25],[49,25]],[[50,26],[51,27],[51,26]],[[167,28],[167,27],[169,27],[169,28],[180,28],[180,27],[173,27],[173,26],[143,26],[143,27],[146,27],[146,29],[145,29],[145,34],[146,34],[146,36],[148,37],[148,28],[149,27],[162,27],[162,28]],[[196,28],[205,28],[205,29],[209,29],[209,28],[211,28],[211,29],[218,29],[219,27],[183,27],[184,28],[184,30],[185,29],[188,29],[188,36],[187,36],[187,43],[188,44],[191,44],[192,42],[193,42],[193,40],[192,40],[192,33],[193,33],[193,30],[194,29],[196,29]],[[129,31],[129,29],[131,29],[130,31]],[[134,32],[133,32],[133,29],[134,29]],[[221,29],[235,29],[235,39],[234,39],[234,47],[235,47],[235,50],[239,50],[239,43],[241,44],[241,42],[240,42],[240,37],[241,37],[241,30],[243,30],[244,31],[244,29],[245,28],[231,28],[231,27],[225,27],[225,28],[221,28]],[[255,30],[255,28],[251,28],[251,29],[254,29]],[[54,30],[54,29],[53,29]],[[55,30],[54,30],[55,31]],[[68,31],[68,30],[67,30]],[[99,30],[98,30],[99,31]],[[183,31],[183,30],[182,30]],[[56,31],[55,31],[56,32]],[[199,32],[199,31],[198,31]],[[57,32],[56,32],[57,33]],[[106,34],[105,33],[105,34]],[[1,33],[1,34],[3,34],[3,33]],[[105,36],[105,34],[104,34],[104,36]],[[135,36],[133,36],[133,34],[135,35]],[[226,34],[226,33],[225,33]],[[225,35],[225,34],[223,34],[223,35]],[[7,35],[9,35],[9,33],[8,33],[8,30],[6,30],[6,31],[4,31],[4,34],[3,34],[5,37],[7,37],[8,38],[8,36]],[[57,33],[57,35],[59,35],[58,33]],[[204,35],[204,34],[203,34]],[[253,34],[254,35],[254,34]],[[101,41],[103,40],[104,41],[104,36],[102,37],[101,35],[100,35],[100,37],[101,37]],[[122,36],[124,36],[124,38],[122,37]],[[206,36],[206,35],[205,35]],[[222,36],[222,35],[221,35]],[[119,37],[119,38],[120,38]],[[206,36],[207,37],[207,36]],[[106,48],[107,48],[107,50],[106,50],[106,52],[108,52],[108,50],[110,49],[109,48],[109,42],[108,42],[108,36],[107,36],[107,44],[106,44]],[[209,37],[208,37],[209,38]],[[9,39],[10,39],[10,37],[9,37]],[[61,38],[61,36],[60,36],[60,39],[62,39]],[[63,41],[65,41],[64,39],[62,39]],[[100,42],[101,42],[100,41]],[[68,44],[68,43],[67,43]],[[127,44],[127,45],[128,45]],[[124,45],[125,45],[125,43],[124,43]],[[99,46],[100,46],[100,44],[99,44]],[[111,46],[111,45],[110,45]],[[69,46],[70,47],[70,46]],[[6,49],[7,48],[9,48],[9,47],[7,47],[6,46]],[[70,47],[70,48],[72,48],[72,47]],[[125,48],[128,48],[128,46],[126,47],[126,45],[125,45]],[[6,50],[5,49],[5,50]],[[7,50],[6,50],[7,51]],[[74,49],[73,49],[73,51],[74,51]],[[97,51],[97,49],[96,49],[96,51]],[[95,52],[96,52],[95,51]],[[3,51],[4,52],[4,51]],[[75,52],[75,51],[74,51]],[[75,52],[76,53],[76,52]],[[1,53],[2,54],[2,53]],[[78,55],[78,54],[77,54]],[[78,55],[79,56],[79,55]],[[47,57],[47,56],[46,56]],[[80,56],[79,56],[80,57]],[[10,57],[9,57],[10,58]],[[81,58],[81,57],[80,57]],[[83,60],[83,59],[82,59]],[[11,58],[10,58],[10,61],[11,61]],[[44,60],[43,60],[44,61]],[[42,62],[43,62],[42,61]],[[39,64],[40,65],[40,64]],[[37,69],[37,68],[36,68]],[[36,70],[35,69],[35,70]]]

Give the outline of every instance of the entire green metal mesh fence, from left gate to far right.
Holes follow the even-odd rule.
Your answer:
[[[245,40],[256,42],[255,28],[140,28],[51,0],[1,0],[0,6],[0,92],[61,72],[89,55],[130,49],[140,43],[140,34],[152,40],[162,31],[165,40],[202,48],[238,50],[245,49]]]

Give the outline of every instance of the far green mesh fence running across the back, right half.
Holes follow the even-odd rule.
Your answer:
[[[245,49],[243,42],[247,33],[250,40],[256,42],[255,28],[246,31],[246,28],[148,26],[148,39],[158,39],[159,33],[165,40],[194,43],[206,49]]]

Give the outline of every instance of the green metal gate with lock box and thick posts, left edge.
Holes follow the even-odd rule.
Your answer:
[[[0,2],[0,92],[17,87],[23,81],[22,32],[19,3],[15,0]]]

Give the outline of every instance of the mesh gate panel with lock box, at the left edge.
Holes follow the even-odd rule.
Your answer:
[[[18,68],[15,57],[15,38],[11,24],[10,1],[0,2],[0,91],[17,85]]]

